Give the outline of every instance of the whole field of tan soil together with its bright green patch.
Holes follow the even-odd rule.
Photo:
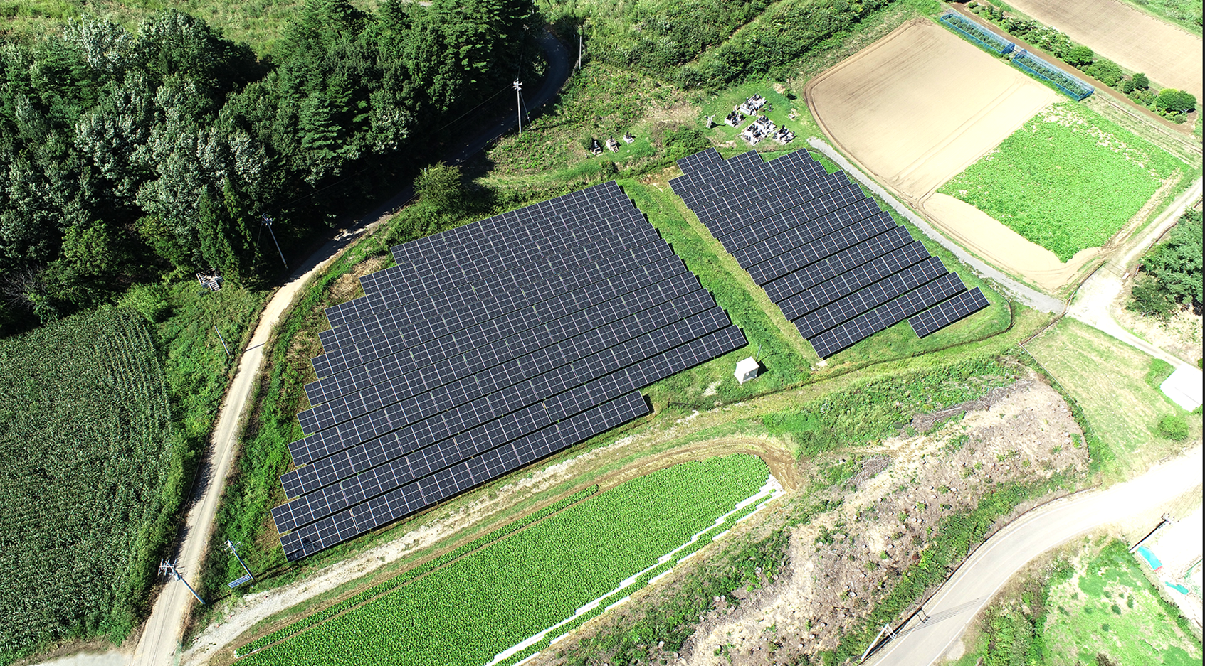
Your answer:
[[[834,143],[945,234],[1051,293],[1191,171],[929,19],[816,77],[805,96]]]

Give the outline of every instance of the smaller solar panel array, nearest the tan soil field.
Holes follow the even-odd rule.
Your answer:
[[[806,151],[764,161],[715,148],[670,184],[821,358],[904,319],[924,337],[988,306],[845,172]]]

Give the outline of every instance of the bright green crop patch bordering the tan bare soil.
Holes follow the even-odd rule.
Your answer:
[[[1103,116],[1062,102],[940,191],[1066,261],[1107,242],[1177,171],[1188,166]]]

